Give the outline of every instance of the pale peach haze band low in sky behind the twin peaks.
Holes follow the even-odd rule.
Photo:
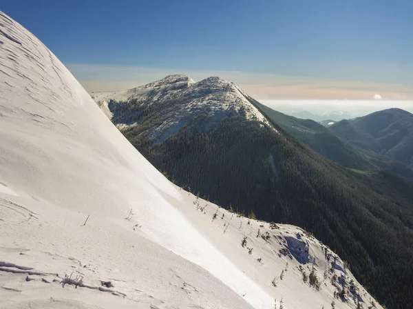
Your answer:
[[[383,99],[413,100],[413,86],[366,81],[236,71],[173,70],[122,66],[67,65],[89,92],[126,90],[169,74],[187,74],[195,81],[218,75],[234,81],[256,99]]]

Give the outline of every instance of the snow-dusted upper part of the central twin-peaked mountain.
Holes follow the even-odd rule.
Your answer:
[[[155,113],[159,126],[149,132],[156,142],[164,141],[196,117],[204,117],[207,130],[226,117],[239,114],[269,125],[265,117],[248,101],[235,83],[220,77],[208,77],[195,83],[185,75],[169,75],[159,81],[121,92],[93,92],[92,98],[119,129],[136,126],[140,119],[136,107]],[[112,100],[112,101],[111,101]],[[125,117],[125,102],[134,107]]]

